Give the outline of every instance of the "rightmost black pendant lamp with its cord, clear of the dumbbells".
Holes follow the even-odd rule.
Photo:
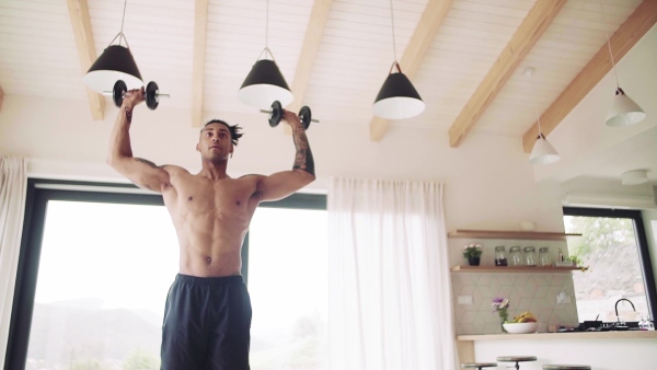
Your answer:
[[[387,119],[404,119],[414,117],[425,109],[425,103],[411,83],[411,80],[402,73],[402,68],[396,61],[396,45],[394,41],[394,14],[392,0],[390,0],[390,19],[392,21],[392,48],[394,62],[383,86],[377,95],[372,107],[376,116]],[[396,67],[396,72],[393,72]]]

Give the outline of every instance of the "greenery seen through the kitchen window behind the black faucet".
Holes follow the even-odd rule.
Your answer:
[[[648,315],[645,285],[632,219],[564,216],[568,233],[568,255],[588,266],[573,273],[579,322],[599,320],[615,322],[615,304],[624,321],[636,322]]]

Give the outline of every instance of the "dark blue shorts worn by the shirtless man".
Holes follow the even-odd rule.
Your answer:
[[[251,299],[241,276],[178,274],[162,324],[163,370],[247,370]]]

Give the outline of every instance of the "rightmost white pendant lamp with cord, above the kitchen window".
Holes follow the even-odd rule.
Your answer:
[[[616,72],[613,53],[611,51],[611,43],[609,42],[609,32],[607,31],[607,20],[604,19],[604,7],[602,7],[602,0],[600,0],[600,11],[602,12],[602,23],[604,24],[604,34],[607,35],[609,57],[611,58],[613,76],[615,77],[616,81],[615,95],[611,102],[611,109],[609,109],[604,123],[610,127],[634,125],[644,120],[644,118],[646,118],[646,114],[641,106],[638,106],[638,104],[634,103],[634,101],[625,94],[619,84],[619,73]]]

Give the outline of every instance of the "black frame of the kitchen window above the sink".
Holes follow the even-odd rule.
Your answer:
[[[657,313],[657,288],[655,285],[655,274],[648,250],[648,239],[641,210],[633,209],[610,209],[610,208],[585,208],[585,207],[563,207],[564,216],[581,217],[606,217],[606,218],[625,218],[631,219],[636,233],[636,246],[638,248],[638,263],[646,288],[646,300],[648,311],[652,317]]]

